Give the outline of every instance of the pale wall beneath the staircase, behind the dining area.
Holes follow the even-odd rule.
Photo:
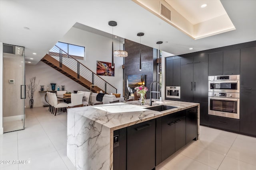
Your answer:
[[[65,90],[68,92],[74,93],[74,90],[81,91],[90,91],[80,84],[76,83],[74,80],[71,80],[64,74],[58,72],[54,68],[48,66],[47,64],[40,61],[36,65],[26,64],[26,85],[29,84],[30,78],[36,77],[36,83],[39,82],[38,87],[34,93],[34,107],[42,107],[44,104],[47,104],[44,100],[44,96],[46,93],[39,92],[40,85],[44,85],[44,90],[46,90],[47,86],[49,86],[49,90],[52,90],[50,83],[56,83],[55,90],[57,87],[61,85],[65,85]],[[29,98],[28,93],[26,92],[25,106],[29,108]]]

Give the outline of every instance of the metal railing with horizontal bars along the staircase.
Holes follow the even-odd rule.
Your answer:
[[[112,86],[100,76],[92,72],[92,70],[84,66],[84,64],[80,63],[72,55],[69,55],[57,45],[54,45],[54,47],[52,47],[48,54],[60,63],[60,68],[62,67],[62,64],[64,64],[65,66],[76,72],[77,78],[80,78],[80,76],[82,76],[92,84],[98,86],[98,88],[104,90],[105,93],[117,93],[117,89],[114,86]]]

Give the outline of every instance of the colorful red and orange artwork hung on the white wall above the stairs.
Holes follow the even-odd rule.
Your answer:
[[[99,76],[115,76],[115,68],[111,68],[111,63],[97,61],[96,73]]]

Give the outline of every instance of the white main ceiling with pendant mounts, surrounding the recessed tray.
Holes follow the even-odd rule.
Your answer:
[[[25,47],[36,64],[76,22],[111,34],[108,21],[117,21],[115,35],[140,42],[144,32],[142,44],[163,41],[160,49],[174,55],[255,41],[256,0],[221,3],[236,30],[194,40],[132,0],[0,0],[0,42]]]

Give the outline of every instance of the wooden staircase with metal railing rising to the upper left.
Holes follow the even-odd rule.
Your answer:
[[[46,54],[41,61],[89,90],[91,85],[93,85],[92,92],[102,90],[103,93],[117,93],[117,89],[114,86],[103,80],[57,45],[55,45],[49,51],[49,54]]]

